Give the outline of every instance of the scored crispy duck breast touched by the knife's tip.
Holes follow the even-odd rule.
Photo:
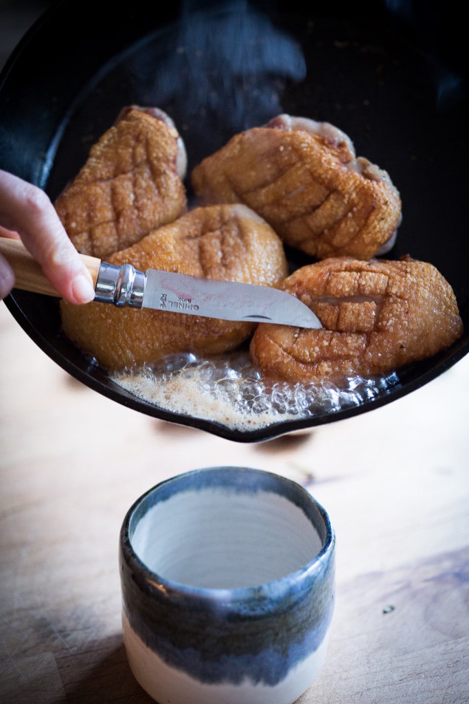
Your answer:
[[[314,310],[323,329],[260,324],[250,353],[268,377],[308,383],[383,375],[463,334],[449,283],[411,258],[330,258],[298,269],[281,288]]]

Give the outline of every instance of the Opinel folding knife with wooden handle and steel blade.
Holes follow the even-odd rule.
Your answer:
[[[0,237],[0,253],[15,272],[15,288],[60,296],[39,264],[17,239]],[[321,321],[308,306],[286,291],[269,286],[195,277],[131,264],[117,266],[80,254],[94,282],[99,303],[120,308],[153,308],[204,318],[271,322],[277,325],[320,328]]]

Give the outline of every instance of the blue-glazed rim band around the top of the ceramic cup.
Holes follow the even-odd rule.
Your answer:
[[[228,472],[235,484],[237,478],[242,477],[246,479],[248,474],[250,476],[255,474],[255,476],[259,477],[263,482],[270,482],[272,487],[276,485],[283,486],[285,491],[290,494],[287,498],[293,499],[293,497],[295,497],[296,500],[294,503],[300,505],[303,509],[307,508],[309,510],[309,513],[305,510],[309,520],[312,521],[311,516],[313,514],[316,517],[314,526],[321,537],[321,550],[299,570],[290,572],[283,577],[274,579],[272,582],[266,582],[258,586],[234,587],[231,589],[196,587],[181,582],[174,582],[172,579],[167,579],[167,577],[150,570],[145,562],[139,558],[139,555],[136,554],[131,544],[131,534],[133,534],[131,524],[134,521],[138,521],[139,511],[143,510],[143,507],[151,500],[153,495],[162,493],[165,489],[169,489],[174,483],[182,483],[190,487],[191,481],[195,481],[199,477],[202,477],[203,480],[210,480],[210,477],[214,476],[227,477]],[[219,484],[215,485],[219,486]],[[173,603],[177,603],[181,598],[185,601],[191,601],[194,605],[195,603],[200,603],[201,606],[209,602],[213,603],[217,601],[220,604],[229,604],[229,609],[233,612],[237,611],[237,604],[240,605],[240,608],[244,611],[245,603],[249,601],[252,602],[252,608],[255,609],[254,604],[257,603],[258,600],[252,599],[252,597],[259,595],[259,590],[262,591],[264,597],[276,603],[281,603],[286,596],[291,596],[293,593],[300,594],[307,585],[311,585],[311,581],[318,578],[321,573],[328,568],[330,563],[333,564],[334,551],[335,530],[330,522],[328,512],[323,508],[321,503],[316,501],[314,496],[311,496],[304,486],[298,484],[293,479],[254,467],[237,467],[230,465],[201,467],[163,479],[162,482],[155,484],[155,486],[148,489],[132,503],[127,510],[120,529],[121,572],[122,563],[125,563],[131,570],[133,581],[136,582],[140,589],[149,594],[153,593],[155,598],[164,598],[165,601]],[[261,606],[259,608],[263,607]]]

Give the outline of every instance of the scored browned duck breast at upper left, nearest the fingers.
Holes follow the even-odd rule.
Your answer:
[[[157,108],[124,108],[54,205],[78,251],[99,258],[186,209],[184,144]]]

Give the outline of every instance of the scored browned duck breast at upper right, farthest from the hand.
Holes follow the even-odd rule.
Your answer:
[[[355,158],[327,122],[279,115],[233,137],[191,175],[200,202],[240,202],[313,257],[369,259],[392,244],[401,200],[387,172]]]

